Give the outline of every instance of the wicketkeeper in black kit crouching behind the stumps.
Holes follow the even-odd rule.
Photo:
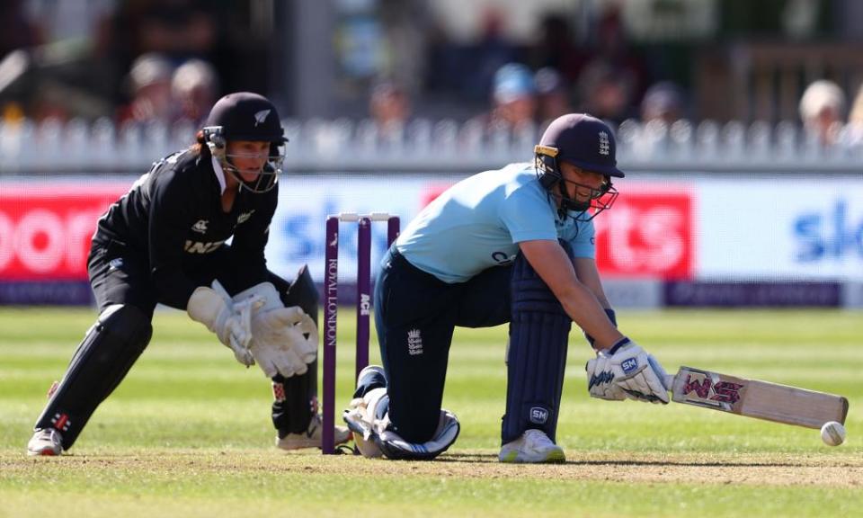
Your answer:
[[[257,362],[271,378],[277,446],[320,447],[317,290],[305,266],[289,283],[267,270],[263,253],[286,141],[269,100],[228,94],[197,144],[153,165],[102,216],[87,262],[99,318],[52,388],[30,455],[75,444],[147,347],[157,303],[186,310],[238,362]],[[347,430],[335,439],[346,441]]]

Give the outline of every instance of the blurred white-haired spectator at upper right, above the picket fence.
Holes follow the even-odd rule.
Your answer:
[[[832,146],[845,118],[845,94],[839,85],[821,79],[800,98],[800,119],[806,133],[822,146]]]

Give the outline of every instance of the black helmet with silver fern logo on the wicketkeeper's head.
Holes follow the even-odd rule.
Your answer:
[[[284,136],[279,112],[269,99],[251,92],[227,94],[209,111],[202,132],[210,153],[241,186],[252,192],[267,192],[275,187],[288,139]],[[227,153],[227,142],[233,140],[270,143],[269,157],[252,181],[245,181],[233,164],[234,158],[245,155]]]

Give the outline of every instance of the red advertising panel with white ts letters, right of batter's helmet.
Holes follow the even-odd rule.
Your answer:
[[[695,274],[695,215],[688,190],[627,185],[594,219],[603,277],[686,280]]]

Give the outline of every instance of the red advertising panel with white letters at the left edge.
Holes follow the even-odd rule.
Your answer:
[[[96,221],[120,183],[0,185],[0,281],[85,280]]]

